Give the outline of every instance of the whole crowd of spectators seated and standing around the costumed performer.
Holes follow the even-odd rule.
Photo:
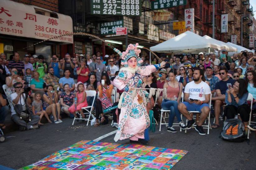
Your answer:
[[[150,64],[149,56],[141,58],[142,66]],[[116,89],[112,81],[122,67],[118,55],[102,57],[97,51],[96,55],[92,56],[75,54],[72,57],[66,54],[62,58],[53,54],[50,63],[45,62],[43,55],[25,55],[22,61],[20,59],[18,52],[14,52],[12,60],[7,60],[5,54],[1,54],[0,83],[1,86],[7,85],[5,93],[0,94],[2,128],[6,127],[4,121],[8,109],[7,99],[14,106],[11,110],[12,119],[21,130],[44,125],[41,122],[43,117],[48,123],[61,123],[62,114],[74,118],[78,117],[75,112],[77,111],[84,118],[81,108],[87,105],[93,105],[92,113],[96,117],[94,126],[97,127],[106,119],[103,110],[118,104],[122,91],[117,90],[116,103],[111,96],[112,89]],[[256,56],[252,52],[241,51],[228,55],[228,52],[223,50],[218,54],[200,52],[193,56],[163,56],[160,59],[153,58],[151,64],[159,64],[162,61],[168,61],[166,67],[145,76],[142,88],[167,89],[167,97],[161,93],[158,98],[153,95],[149,99],[147,111],[157,107],[154,108],[155,116],[161,108],[171,110],[167,129],[169,132],[177,132],[173,127],[176,116],[182,129],[190,129],[192,125],[197,124],[196,131],[205,135],[201,126],[210,112],[210,95],[211,112],[215,117],[212,128],[220,127],[219,116],[222,113],[224,118],[228,119],[234,118],[237,113],[243,113],[240,114],[240,118],[247,128],[250,112],[246,101],[248,93],[256,99]],[[24,87],[31,87],[28,95],[24,95]],[[85,90],[97,92],[98,96],[94,103],[93,97],[86,96]],[[184,97],[183,102],[180,102],[182,92]],[[253,109],[256,108],[255,102],[256,100]],[[157,106],[154,106],[154,103],[157,103]],[[26,109],[29,109],[31,114],[29,122],[19,116]],[[198,111],[200,116],[197,115],[197,119],[194,120],[188,111]],[[117,127],[118,114],[113,110],[111,113],[113,127]],[[188,119],[186,125],[181,119],[181,114]]]

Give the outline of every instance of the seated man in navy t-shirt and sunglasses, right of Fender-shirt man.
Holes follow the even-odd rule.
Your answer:
[[[214,114],[215,114],[215,124],[211,127],[216,129],[220,126],[219,116],[220,116],[220,107],[225,104],[225,94],[228,89],[228,84],[235,83],[235,80],[228,78],[228,70],[225,67],[220,68],[220,78],[221,81],[217,82],[215,85],[216,96],[212,97],[211,100],[214,101]]]

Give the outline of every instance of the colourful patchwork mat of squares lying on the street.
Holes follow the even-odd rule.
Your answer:
[[[80,141],[21,169],[170,169],[188,151]]]

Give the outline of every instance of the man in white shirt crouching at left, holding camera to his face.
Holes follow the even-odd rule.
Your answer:
[[[32,107],[30,105],[31,100],[30,100],[29,96],[27,96],[26,104],[25,104],[25,100],[24,100],[25,94],[24,94],[24,88],[23,88],[22,83],[17,82],[13,85],[13,87],[15,89],[15,93],[12,93],[11,101],[13,102],[15,111],[12,112],[12,120],[17,125],[20,126],[19,129],[21,131],[39,128],[37,123],[39,122],[40,117],[38,115],[30,114],[31,121],[29,121],[28,123],[26,123],[23,119],[20,118],[19,114],[22,111],[26,113],[26,110],[29,110],[26,108],[26,105],[28,106],[28,108]],[[30,111],[28,111],[27,113],[30,113]]]

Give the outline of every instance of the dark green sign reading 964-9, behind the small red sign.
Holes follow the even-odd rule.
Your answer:
[[[102,22],[100,23],[100,34],[111,35],[116,34],[116,28],[124,27],[124,21],[118,20],[113,22]]]

